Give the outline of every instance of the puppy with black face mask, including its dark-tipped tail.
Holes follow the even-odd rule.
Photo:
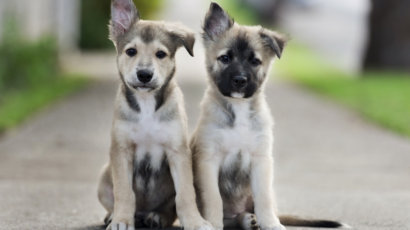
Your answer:
[[[205,220],[215,229],[342,226],[276,215],[273,120],[262,92],[273,59],[280,58],[288,37],[260,26],[238,25],[216,3],[205,16],[202,36],[209,87],[190,148]]]

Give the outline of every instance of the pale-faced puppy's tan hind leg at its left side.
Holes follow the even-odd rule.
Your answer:
[[[108,211],[104,218],[104,223],[108,225],[112,221],[114,211],[114,192],[112,186],[111,167],[109,163],[103,166],[98,183],[98,200]]]

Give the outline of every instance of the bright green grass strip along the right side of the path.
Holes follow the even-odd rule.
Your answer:
[[[292,42],[275,66],[288,79],[410,137],[410,73],[367,71],[361,76],[348,74]]]

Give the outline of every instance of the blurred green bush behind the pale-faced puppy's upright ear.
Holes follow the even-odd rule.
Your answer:
[[[163,0],[134,0],[141,19],[153,19]],[[114,48],[108,39],[111,0],[81,1],[80,47],[82,49]]]

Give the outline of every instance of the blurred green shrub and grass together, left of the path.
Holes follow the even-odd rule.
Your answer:
[[[84,77],[60,73],[55,38],[24,40],[12,17],[7,18],[2,29],[0,133],[88,82]]]

